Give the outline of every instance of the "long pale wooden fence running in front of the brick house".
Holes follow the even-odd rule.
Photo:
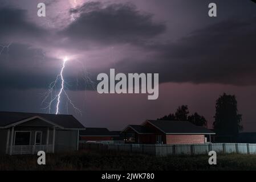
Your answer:
[[[81,143],[80,150],[127,151],[156,156],[166,155],[198,155],[209,151],[230,154],[256,154],[256,144],[251,143],[205,143],[205,144],[106,144]]]

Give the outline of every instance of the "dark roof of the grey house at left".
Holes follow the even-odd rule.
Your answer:
[[[62,126],[65,129],[84,129],[84,126],[72,115],[17,113],[6,111],[0,111],[0,127],[12,125],[32,117],[41,117],[47,121],[55,123],[58,126]]]

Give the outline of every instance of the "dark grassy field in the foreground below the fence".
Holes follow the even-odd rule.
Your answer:
[[[155,156],[127,152],[77,151],[47,154],[46,165],[37,164],[36,155],[0,156],[0,170],[256,170],[256,155],[217,155],[217,165],[208,164],[208,155]]]

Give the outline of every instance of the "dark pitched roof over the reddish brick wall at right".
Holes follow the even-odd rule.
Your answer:
[[[147,120],[146,122],[165,134],[215,134],[206,127],[196,126],[188,121]]]

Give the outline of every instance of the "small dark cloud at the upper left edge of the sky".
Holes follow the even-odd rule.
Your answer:
[[[36,37],[46,35],[43,28],[27,21],[27,11],[10,7],[0,8],[0,38]]]

